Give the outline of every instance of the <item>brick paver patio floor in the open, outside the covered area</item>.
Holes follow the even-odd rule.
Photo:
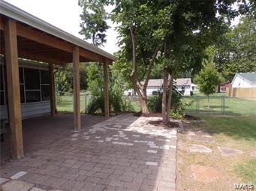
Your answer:
[[[176,130],[148,124],[158,119],[125,114],[70,130],[23,160],[3,163],[0,177],[9,181],[0,190],[175,190]]]

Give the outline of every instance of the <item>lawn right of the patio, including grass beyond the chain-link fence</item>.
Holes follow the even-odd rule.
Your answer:
[[[251,151],[256,150],[256,100],[246,100],[236,97],[224,98],[224,115],[221,114],[221,97],[224,94],[214,94],[210,97],[207,109],[207,98],[196,94],[199,99],[199,112],[196,112],[195,97],[182,97],[185,112],[203,119],[200,122],[186,124],[186,130],[210,133],[215,142],[198,142],[190,140],[185,134],[179,135],[178,166],[179,176],[177,190],[233,190],[234,183],[251,183],[256,185],[256,159],[251,157]],[[187,148],[191,144],[205,145],[213,150],[213,154],[191,154]],[[218,146],[236,148],[243,154],[224,157],[218,151]],[[212,166],[223,175],[223,178],[211,183],[202,184],[191,178],[191,165],[200,164]],[[202,186],[203,185],[203,186]]]

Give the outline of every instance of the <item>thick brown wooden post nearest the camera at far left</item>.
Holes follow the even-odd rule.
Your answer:
[[[17,50],[16,22],[5,20],[5,67],[8,88],[8,119],[11,129],[12,158],[21,159],[23,153],[23,128],[20,109],[20,81]]]

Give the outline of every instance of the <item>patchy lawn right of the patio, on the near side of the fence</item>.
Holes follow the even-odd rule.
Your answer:
[[[177,153],[177,190],[234,190],[235,183],[256,184],[256,159],[250,156],[256,149],[256,115],[196,115],[203,121],[185,124],[185,132],[179,133]],[[193,132],[196,139],[190,139]],[[203,142],[200,134],[209,133],[214,142]],[[212,149],[210,154],[191,153],[191,144],[204,145]],[[243,154],[222,156],[218,146],[235,148]],[[200,182],[193,178],[191,165],[212,166],[222,177],[211,182]]]

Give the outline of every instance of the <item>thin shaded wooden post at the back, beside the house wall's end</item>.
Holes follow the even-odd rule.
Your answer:
[[[52,117],[56,114],[55,81],[53,73],[53,64],[49,64],[50,73],[50,113]]]

